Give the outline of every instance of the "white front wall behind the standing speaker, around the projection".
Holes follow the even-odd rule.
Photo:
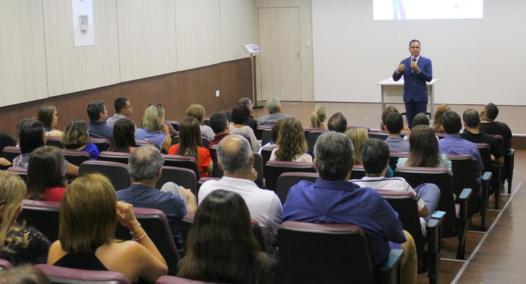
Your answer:
[[[526,105],[526,1],[484,1],[483,19],[373,21],[373,1],[312,0],[314,99],[380,101],[409,41],[431,58],[436,103]]]

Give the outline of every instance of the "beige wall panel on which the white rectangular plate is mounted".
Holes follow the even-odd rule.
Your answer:
[[[95,45],[75,47],[71,1],[42,1],[49,97],[119,83],[115,1],[93,1]]]

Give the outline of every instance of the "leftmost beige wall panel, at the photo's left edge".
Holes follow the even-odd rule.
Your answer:
[[[47,97],[40,0],[0,1],[0,106]]]

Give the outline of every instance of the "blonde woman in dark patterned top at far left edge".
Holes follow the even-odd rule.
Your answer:
[[[22,212],[26,183],[13,172],[0,172],[0,258],[12,265],[46,263],[48,238],[29,226],[16,222]]]

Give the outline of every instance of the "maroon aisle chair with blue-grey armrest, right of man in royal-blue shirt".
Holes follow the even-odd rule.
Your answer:
[[[423,235],[414,194],[398,190],[376,190],[376,192],[382,194],[389,205],[398,212],[398,219],[404,230],[413,237],[418,258],[418,273],[427,272],[430,284],[439,283],[444,212],[437,211],[431,215],[432,217],[426,224],[426,234]]]

